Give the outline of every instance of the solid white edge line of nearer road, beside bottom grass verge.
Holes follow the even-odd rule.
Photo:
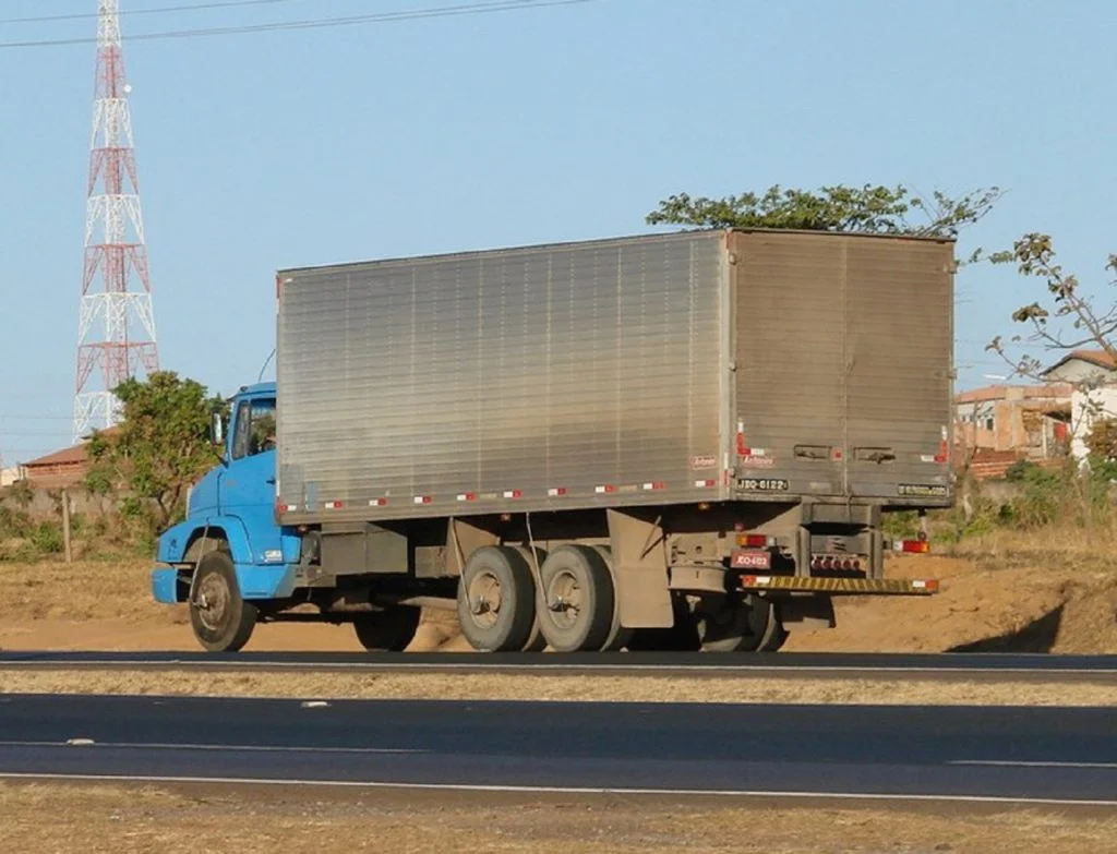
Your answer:
[[[857,791],[773,791],[770,789],[652,789],[590,786],[494,786],[455,783],[389,783],[386,780],[273,780],[256,777],[171,777],[117,774],[23,774],[0,771],[9,780],[80,780],[89,783],[216,784],[222,786],[302,786],[315,788],[408,789],[422,791],[488,791],[523,795],[650,795],[672,797],[800,798],[821,800],[919,800],[964,804],[1037,804],[1044,806],[1117,807],[1117,800],[1080,798],[1000,797],[992,795],[898,795]]]

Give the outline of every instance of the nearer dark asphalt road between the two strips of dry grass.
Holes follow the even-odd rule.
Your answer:
[[[15,694],[0,697],[0,778],[1009,799],[1117,809],[1115,733],[1117,709],[1098,708],[306,706]]]

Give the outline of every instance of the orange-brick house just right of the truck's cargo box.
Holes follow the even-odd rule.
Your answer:
[[[990,385],[954,397],[955,459],[978,478],[1020,460],[1062,458],[1070,436],[1069,383]]]

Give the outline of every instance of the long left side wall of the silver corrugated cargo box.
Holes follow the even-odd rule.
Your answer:
[[[726,233],[285,270],[286,524],[727,492]]]

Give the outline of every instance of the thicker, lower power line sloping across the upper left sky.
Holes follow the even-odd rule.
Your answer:
[[[160,39],[185,39],[203,36],[233,36],[250,32],[277,32],[280,30],[325,29],[330,27],[350,27],[363,23],[390,23],[395,21],[427,20],[431,18],[450,18],[491,12],[508,12],[522,9],[543,9],[557,6],[581,6],[596,0],[496,0],[495,2],[474,2],[459,6],[440,6],[410,11],[378,12],[375,15],[354,15],[347,18],[312,18],[297,21],[277,21],[275,23],[248,23],[238,27],[210,27],[188,30],[165,30],[161,32],[141,32],[128,36],[127,41],[153,41]],[[69,45],[92,45],[96,38],[41,39],[38,41],[0,41],[0,49],[64,47]]]

